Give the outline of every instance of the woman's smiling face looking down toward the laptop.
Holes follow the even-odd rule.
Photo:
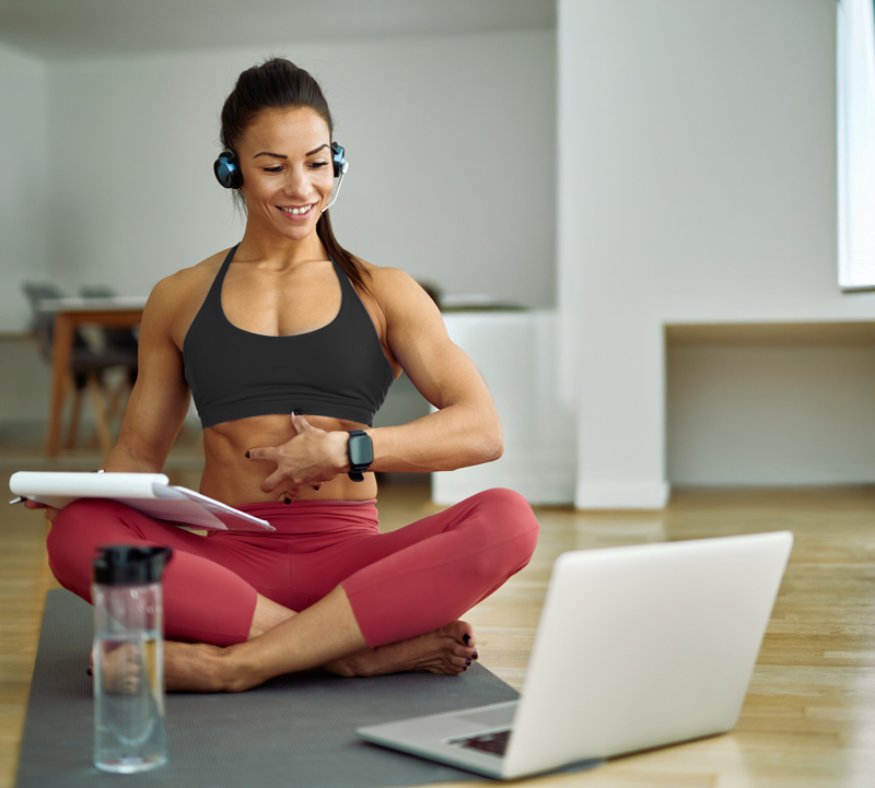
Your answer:
[[[314,232],[334,186],[330,145],[310,107],[256,115],[237,145],[247,222],[294,240]]]

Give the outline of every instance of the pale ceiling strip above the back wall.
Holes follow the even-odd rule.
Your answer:
[[[0,0],[0,42],[44,58],[555,27],[555,0]]]

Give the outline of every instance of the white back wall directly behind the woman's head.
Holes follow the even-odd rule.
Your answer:
[[[556,36],[470,36],[52,61],[51,263],[122,294],[235,243],[214,181],[241,70],[284,55],[322,82],[349,175],[340,243],[447,293],[555,303]],[[75,152],[75,155],[70,155]]]

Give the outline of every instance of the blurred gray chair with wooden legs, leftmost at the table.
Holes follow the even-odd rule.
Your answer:
[[[44,298],[62,298],[63,293],[50,282],[25,282],[22,290],[31,305],[32,324],[31,329],[39,339],[39,350],[43,357],[51,364],[52,361],[52,340],[55,329],[55,315],[39,308],[39,302]],[[75,445],[77,433],[79,432],[79,417],[82,410],[82,392],[88,389],[94,421],[97,428],[97,438],[101,449],[108,454],[113,448],[109,434],[109,423],[107,405],[104,398],[110,403],[110,411],[118,412],[119,393],[112,391],[104,379],[104,373],[114,367],[127,369],[128,377],[131,368],[137,369],[137,346],[136,339],[132,348],[109,348],[104,343],[104,348],[95,349],[89,345],[88,341],[80,331],[73,336],[73,348],[70,355],[70,371],[68,377],[68,390],[72,389],[73,409],[70,415],[70,425],[67,433],[67,447]],[[126,379],[127,383],[127,379]],[[113,404],[115,403],[115,404]]]

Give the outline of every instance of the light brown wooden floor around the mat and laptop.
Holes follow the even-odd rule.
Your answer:
[[[0,475],[15,469],[3,458]],[[191,486],[192,474],[179,471],[174,481]],[[423,487],[381,491],[384,529],[429,510]],[[517,689],[560,553],[780,529],[796,541],[732,732],[522,785],[875,786],[875,490],[681,492],[657,513],[536,511],[541,538],[532,564],[466,616],[483,664]],[[38,516],[21,506],[0,510],[0,788],[14,784],[43,600],[55,587],[44,537]]]

